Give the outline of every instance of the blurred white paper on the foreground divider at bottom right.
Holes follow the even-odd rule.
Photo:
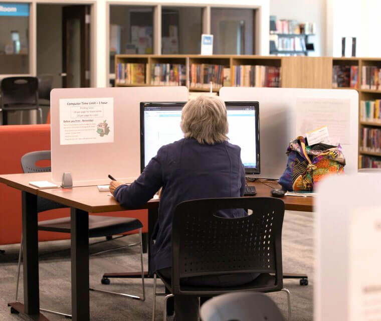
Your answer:
[[[348,321],[380,320],[381,206],[352,209],[348,244]]]

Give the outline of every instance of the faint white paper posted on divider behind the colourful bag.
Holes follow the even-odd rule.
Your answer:
[[[341,144],[350,144],[350,100],[337,98],[296,99],[298,134],[327,126],[329,134]],[[337,138],[336,138],[337,139]]]

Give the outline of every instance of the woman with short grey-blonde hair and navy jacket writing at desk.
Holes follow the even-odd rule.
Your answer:
[[[122,206],[136,208],[162,188],[158,220],[151,241],[151,271],[171,278],[172,213],[183,201],[240,197],[245,190],[241,148],[228,142],[225,103],[218,97],[200,96],[182,108],[184,138],[162,146],[140,177],[131,185],[112,181],[110,191]],[[220,211],[219,216],[245,216],[244,210]],[[153,242],[155,240],[155,242]],[[241,285],[257,275],[230,274],[182,279],[182,284],[205,286]],[[198,319],[197,297],[174,298],[176,321]]]

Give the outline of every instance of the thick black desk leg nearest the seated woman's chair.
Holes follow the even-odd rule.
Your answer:
[[[89,213],[71,209],[72,320],[90,319]]]

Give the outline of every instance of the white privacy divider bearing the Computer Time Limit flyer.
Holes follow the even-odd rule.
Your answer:
[[[52,180],[127,183],[140,175],[140,102],[187,101],[186,87],[62,88],[51,92]]]

